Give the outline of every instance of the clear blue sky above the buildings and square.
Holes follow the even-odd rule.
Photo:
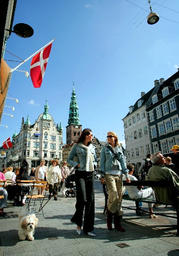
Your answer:
[[[91,128],[99,140],[115,131],[124,141],[122,118],[141,92],[165,80],[179,67],[179,1],[151,1],[160,19],[147,24],[148,0],[17,0],[13,26],[26,23],[34,35],[23,39],[12,33],[6,50],[26,59],[55,38],[40,88],[30,77],[14,71],[1,125],[0,144],[20,132],[22,118],[31,124],[44,111],[62,124],[66,142],[72,84],[82,128]],[[174,10],[174,11],[173,11]],[[5,60],[19,61],[5,52]],[[19,63],[7,61],[11,68]],[[31,60],[19,70],[30,73]]]

